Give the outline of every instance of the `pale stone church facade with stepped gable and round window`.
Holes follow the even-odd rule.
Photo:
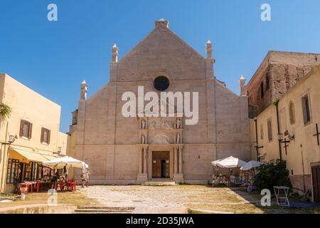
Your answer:
[[[127,185],[154,180],[208,184],[211,161],[233,155],[250,160],[247,96],[236,95],[213,73],[210,41],[204,58],[159,20],[146,38],[119,59],[112,47],[110,82],[90,98],[81,83],[70,127],[73,156],[90,165],[90,184]],[[124,117],[123,93],[198,92],[198,123],[186,117]],[[161,86],[160,86],[161,87]],[[191,99],[192,100],[192,99]],[[75,177],[79,177],[78,173]]]

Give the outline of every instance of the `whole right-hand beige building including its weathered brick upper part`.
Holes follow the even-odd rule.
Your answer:
[[[270,52],[247,85],[252,158],[286,160],[294,190],[300,194],[310,190],[316,202],[320,202],[319,57]]]

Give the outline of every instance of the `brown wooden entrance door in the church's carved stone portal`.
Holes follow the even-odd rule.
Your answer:
[[[152,178],[170,177],[170,152],[152,152]]]

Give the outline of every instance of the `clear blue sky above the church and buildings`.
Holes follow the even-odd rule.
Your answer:
[[[58,21],[47,6],[58,6]],[[261,21],[260,6],[272,21]],[[120,58],[144,38],[156,19],[168,19],[178,36],[205,56],[213,42],[215,76],[238,93],[267,51],[320,53],[319,0],[0,0],[0,73],[62,106],[60,130],[68,131],[78,105],[79,83],[92,95],[109,81],[110,50]],[[32,101],[31,101],[32,102]]]

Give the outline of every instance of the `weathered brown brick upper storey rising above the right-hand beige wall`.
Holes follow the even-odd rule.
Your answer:
[[[319,54],[270,51],[247,84],[249,105],[257,106],[257,114],[261,113],[319,64]]]

